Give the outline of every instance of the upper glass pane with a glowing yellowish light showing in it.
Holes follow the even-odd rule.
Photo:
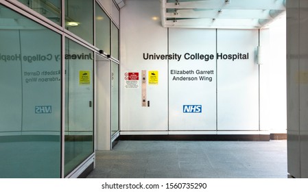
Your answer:
[[[65,0],[65,28],[93,44],[93,1]]]

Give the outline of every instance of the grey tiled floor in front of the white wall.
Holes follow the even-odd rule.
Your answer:
[[[287,141],[119,141],[87,178],[287,178]]]

